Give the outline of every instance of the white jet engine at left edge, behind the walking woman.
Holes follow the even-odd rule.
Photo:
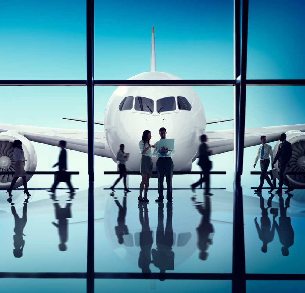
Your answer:
[[[34,150],[34,146],[32,143],[24,137],[20,132],[15,132],[13,130],[9,130],[7,132],[0,133],[0,172],[2,171],[15,171],[14,169],[14,158],[13,158],[13,141],[21,140],[22,149],[24,151],[24,170],[25,171],[35,171],[37,166],[37,155]],[[27,181],[33,175],[27,175]],[[0,175],[0,188],[8,189],[11,181],[13,180],[14,175]],[[17,188],[22,185],[22,178],[20,177],[14,188]]]

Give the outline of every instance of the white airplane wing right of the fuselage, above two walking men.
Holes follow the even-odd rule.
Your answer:
[[[267,136],[267,143],[278,141],[280,134],[289,130],[305,132],[305,124],[247,128],[245,129],[245,147],[261,144],[260,137],[262,135]],[[205,132],[208,137],[207,145],[213,151],[213,154],[221,154],[233,150],[233,133],[233,129]],[[198,155],[197,153],[196,157]]]

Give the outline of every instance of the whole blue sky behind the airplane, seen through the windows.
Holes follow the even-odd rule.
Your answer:
[[[152,26],[158,71],[182,79],[232,79],[233,1],[185,3],[95,1],[95,79],[127,79],[149,71]],[[0,79],[85,79],[85,11],[85,1],[2,3]],[[249,1],[248,79],[305,78],[303,14],[301,1]],[[103,119],[115,88],[95,88],[95,119]],[[233,117],[231,86],[194,89],[206,119]],[[246,127],[304,123],[304,94],[304,86],[248,86]],[[86,117],[85,87],[1,87],[0,97],[2,123],[86,129],[85,123],[59,119]],[[207,130],[232,128],[226,122]],[[47,171],[58,149],[34,146],[37,170]],[[257,146],[245,150],[249,182],[256,180],[249,177],[256,151]],[[71,170],[79,169],[79,160],[86,165],[85,154],[69,154]],[[232,152],[214,156],[215,170],[232,160]],[[113,162],[107,162],[96,158],[96,172],[103,170],[101,165],[112,168]]]

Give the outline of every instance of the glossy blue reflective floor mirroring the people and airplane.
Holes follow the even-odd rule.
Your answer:
[[[174,190],[173,202],[138,203],[138,191],[96,187],[96,273],[232,273],[233,192]],[[185,186],[187,188],[188,186]],[[0,201],[1,272],[85,273],[88,190],[14,190]],[[247,274],[305,274],[305,192],[243,188]],[[178,278],[178,277],[177,277]],[[164,280],[165,279],[165,280]],[[283,284],[283,285],[281,285]],[[85,292],[86,279],[2,279],[1,292]],[[231,292],[231,280],[95,279],[95,292]],[[204,290],[203,290],[204,288]],[[268,288],[268,290],[267,290]],[[247,292],[304,292],[305,281],[247,281]],[[265,290],[265,291],[264,291]],[[290,290],[291,291],[291,290]]]

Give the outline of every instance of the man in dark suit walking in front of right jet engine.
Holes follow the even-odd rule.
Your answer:
[[[286,179],[287,182],[287,187],[288,189],[285,192],[290,192],[293,190],[293,188],[291,187],[287,175],[286,175],[286,167],[289,165],[289,161],[290,158],[292,156],[292,147],[291,147],[291,143],[289,143],[286,140],[286,134],[282,133],[280,136],[280,141],[282,143],[280,143],[278,145],[278,151],[275,155],[273,164],[272,164],[272,169],[274,168],[274,165],[276,163],[276,161],[278,161],[278,166],[280,168],[280,180],[278,182],[278,190],[275,193],[282,193],[282,186],[284,183],[284,179]]]

